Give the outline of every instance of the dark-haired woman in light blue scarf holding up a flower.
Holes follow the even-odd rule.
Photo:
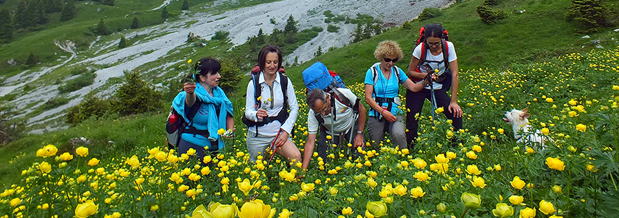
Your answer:
[[[202,162],[205,151],[213,155],[224,148],[224,141],[217,131],[225,129],[233,132],[235,120],[232,119],[232,102],[217,86],[221,79],[219,61],[202,58],[196,62],[194,69],[199,71],[199,74],[193,75],[195,82],[184,84],[183,91],[176,95],[172,106],[188,122],[178,143],[179,154],[186,154],[193,148]],[[187,116],[191,108],[197,108],[194,117]]]

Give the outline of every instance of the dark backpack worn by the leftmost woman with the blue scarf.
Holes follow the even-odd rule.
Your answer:
[[[208,136],[208,130],[195,130],[193,128],[193,117],[202,105],[202,101],[199,99],[195,99],[195,103],[189,110],[187,111],[186,117],[189,120],[189,123],[183,119],[183,116],[179,114],[173,106],[170,107],[170,114],[168,115],[168,119],[166,120],[166,134],[168,136],[168,148],[174,149],[178,146],[180,142],[180,138],[183,133],[191,133],[191,134],[202,134]],[[189,129],[186,127],[189,126]],[[193,128],[193,129],[192,129]]]

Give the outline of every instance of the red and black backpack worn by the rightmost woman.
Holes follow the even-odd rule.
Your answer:
[[[426,42],[426,38],[424,37],[424,32],[426,30],[426,26],[424,25],[423,27],[421,27],[419,29],[419,38],[417,38],[417,44],[415,45],[415,47],[417,47],[418,45],[422,45],[422,53],[421,56],[419,57],[419,63],[417,64],[417,66],[415,67],[415,71],[420,72],[421,73],[421,67],[422,64],[424,64],[424,62],[426,62],[426,57],[427,57],[427,52],[429,49],[429,45]],[[437,82],[440,84],[445,84],[445,86],[443,87],[444,90],[449,90],[449,88],[451,87],[451,71],[449,71],[449,47],[447,45],[447,41],[449,39],[448,36],[448,32],[445,28],[442,29],[442,36],[441,36],[441,45],[443,49],[443,63],[445,64],[445,73],[443,73],[442,75],[439,75]],[[427,61],[427,62],[434,62],[434,61]],[[420,80],[413,80],[415,82],[419,82]]]

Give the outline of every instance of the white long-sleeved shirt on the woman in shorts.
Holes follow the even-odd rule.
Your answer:
[[[257,77],[258,84],[261,88],[261,106],[260,108],[267,111],[269,117],[274,117],[279,114],[279,111],[283,108],[283,93],[281,92],[281,77],[279,73],[276,73],[275,81],[269,86],[264,80],[264,73],[260,73]],[[286,81],[287,85],[287,97],[288,97],[288,108],[290,109],[290,115],[288,119],[284,123],[279,123],[279,121],[272,121],[266,125],[259,127],[259,134],[265,136],[275,136],[279,129],[286,131],[288,134],[292,134],[292,127],[294,127],[294,122],[296,122],[296,117],[298,116],[298,102],[296,101],[296,95],[294,93],[294,88],[292,87],[292,82],[290,78]],[[254,82],[250,81],[247,85],[247,96],[245,101],[245,115],[251,121],[257,122],[258,118],[256,116],[257,109],[254,106],[256,105],[256,99],[254,98]],[[249,132],[256,133],[256,127],[252,126],[248,128]]]

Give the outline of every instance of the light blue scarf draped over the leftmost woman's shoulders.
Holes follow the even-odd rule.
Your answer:
[[[202,101],[202,106],[206,106],[206,110],[208,110],[208,139],[210,141],[218,141],[219,149],[222,149],[224,148],[224,141],[219,140],[217,130],[221,128],[226,129],[226,117],[228,114],[233,114],[232,101],[228,99],[224,90],[219,88],[219,86],[213,88],[213,97],[208,94],[201,84],[196,83],[195,86],[195,95]],[[172,101],[172,106],[179,114],[182,114],[186,122],[189,122],[184,111],[186,95],[185,91],[178,93]],[[216,114],[215,105],[220,108],[219,114]]]

